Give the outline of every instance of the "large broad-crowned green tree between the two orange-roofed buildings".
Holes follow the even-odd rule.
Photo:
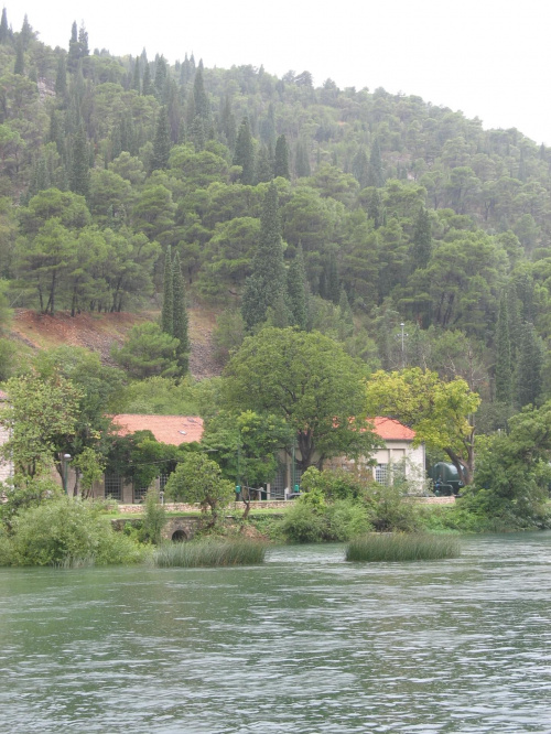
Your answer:
[[[247,337],[226,367],[224,390],[238,410],[283,418],[303,469],[378,445],[365,418],[361,366],[322,334],[268,327]]]

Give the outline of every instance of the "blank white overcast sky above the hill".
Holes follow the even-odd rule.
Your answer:
[[[320,86],[385,87],[516,127],[551,145],[549,0],[4,0],[8,22],[26,12],[39,37],[68,46],[84,21],[90,51],[205,66],[307,69]]]

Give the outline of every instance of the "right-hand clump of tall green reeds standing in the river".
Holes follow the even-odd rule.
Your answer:
[[[347,561],[432,561],[457,558],[457,538],[429,533],[369,535],[356,538],[346,548]]]

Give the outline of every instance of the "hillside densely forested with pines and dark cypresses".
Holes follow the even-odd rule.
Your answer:
[[[550,164],[417,96],[114,57],[71,19],[51,48],[2,14],[0,274],[21,307],[160,307],[170,248],[222,360],[264,321],[315,328],[371,368],[465,377],[490,430],[551,396]]]

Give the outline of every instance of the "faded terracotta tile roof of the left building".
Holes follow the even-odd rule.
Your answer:
[[[151,431],[161,443],[179,446],[181,443],[201,441],[203,419],[198,415],[143,415],[139,413],[119,413],[112,415],[112,422],[119,427],[118,435],[134,431]]]

